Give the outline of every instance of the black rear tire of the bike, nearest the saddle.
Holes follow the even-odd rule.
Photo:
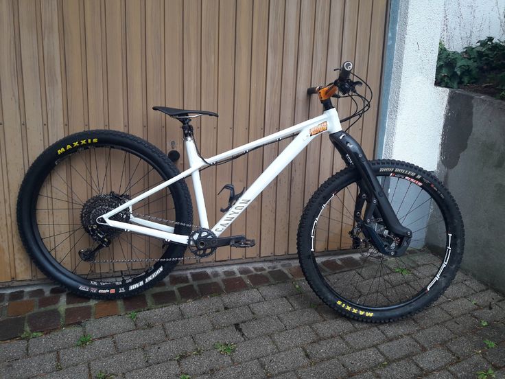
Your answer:
[[[82,141],[85,143],[82,144]],[[139,162],[148,163],[163,180],[170,179],[179,174],[174,163],[161,150],[133,135],[114,130],[89,130],[75,133],[60,139],[60,141],[47,148],[27,171],[19,190],[17,222],[19,234],[27,253],[32,257],[32,260],[40,271],[47,275],[47,277],[80,296],[94,299],[118,299],[135,295],[154,286],[154,284],[172,271],[178,262],[156,262],[147,271],[139,275],[135,274],[137,276],[130,277],[128,281],[98,283],[95,280],[85,279],[77,275],[77,273],[71,273],[67,268],[58,264],[58,261],[49,253],[43,243],[36,221],[38,194],[45,180],[51,175],[51,170],[60,161],[69,158],[71,154],[82,152],[86,149],[89,149],[89,154],[92,154],[93,150],[91,149],[103,147],[109,148],[109,157],[112,148],[119,149],[114,151],[124,152],[125,161],[126,154],[129,154],[128,157],[130,157],[130,154],[132,157],[138,157]],[[86,173],[84,172],[85,175]],[[104,174],[104,178],[106,175]],[[122,179],[121,172],[121,181]],[[148,189],[145,188],[145,190]],[[191,225],[193,210],[191,196],[189,195],[185,181],[177,181],[173,185],[170,185],[169,193],[174,201],[176,221]],[[175,233],[189,235],[191,228],[177,225]],[[163,254],[161,257],[180,258],[183,257],[185,249],[186,246],[181,244],[169,243],[166,245],[166,249],[165,245],[163,246],[160,253]]]

